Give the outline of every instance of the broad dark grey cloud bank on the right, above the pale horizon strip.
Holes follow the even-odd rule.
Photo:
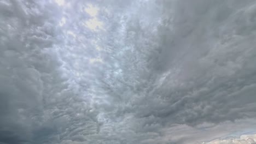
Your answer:
[[[175,101],[175,103],[169,109],[164,109],[160,117],[173,116],[177,113],[178,116],[175,118],[178,118],[178,122],[188,124],[205,121],[218,123],[225,120],[234,121],[242,117],[254,117],[255,114],[251,112],[255,107],[249,104],[256,100],[253,97],[255,69],[249,68],[253,58],[252,55],[248,55],[255,52],[252,49],[252,45],[255,44],[251,41],[254,35],[251,34],[252,31],[248,31],[248,37],[233,34],[241,28],[246,30],[243,25],[249,27],[253,25],[252,19],[249,18],[253,13],[248,12],[253,10],[252,2],[240,4],[241,9],[238,11],[235,11],[236,3],[231,1],[213,4],[206,1],[199,2],[178,4],[178,10],[174,11],[178,15],[173,18],[173,29],[178,31],[173,37],[178,37],[178,42],[164,43],[161,46],[164,50],[159,58],[171,59],[161,59],[160,62],[175,63],[169,67],[170,74],[166,76],[166,82],[162,83],[159,93],[167,92],[166,95],[161,94],[161,96],[164,96],[166,101],[170,103]],[[222,7],[219,7],[220,4]],[[182,8],[185,12],[182,11],[180,15],[179,9]],[[219,11],[222,9],[230,9],[228,14],[223,14],[226,18],[213,21],[212,19],[218,19]],[[232,23],[239,19],[243,19],[239,25],[232,26]],[[235,27],[234,31],[226,31],[229,27]],[[192,32],[184,32],[189,28],[191,30],[188,31]],[[183,32],[186,35],[183,35]],[[172,37],[166,39],[170,38]],[[179,42],[180,40],[182,43]],[[167,56],[166,53],[172,54]],[[173,90],[171,85],[174,85]],[[248,105],[247,109],[245,105]]]

